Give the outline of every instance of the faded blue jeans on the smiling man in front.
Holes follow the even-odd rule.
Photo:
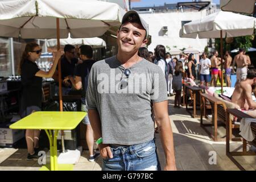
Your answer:
[[[103,159],[102,171],[160,171],[155,141],[120,146],[110,144],[113,158]]]

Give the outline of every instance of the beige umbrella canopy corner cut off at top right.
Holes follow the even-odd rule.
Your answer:
[[[237,13],[254,13],[255,0],[220,0],[222,11],[233,11]]]

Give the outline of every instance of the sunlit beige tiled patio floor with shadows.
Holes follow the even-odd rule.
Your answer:
[[[240,170],[225,154],[225,142],[213,142],[207,133],[200,127],[200,119],[191,118],[185,108],[173,107],[174,97],[169,100],[169,115],[172,130],[174,131],[175,157],[178,170]],[[225,134],[220,128],[219,135]],[[159,134],[156,134],[159,158],[164,167],[164,151],[160,143]],[[241,150],[242,142],[232,142],[232,150]],[[215,151],[217,164],[209,164],[209,152]],[[26,160],[25,149],[0,148],[1,170],[38,170],[40,165],[36,160]],[[102,159],[95,162],[88,161],[89,152],[82,151],[79,162],[74,170],[101,170]],[[235,159],[246,170],[256,170],[256,156],[236,156]]]

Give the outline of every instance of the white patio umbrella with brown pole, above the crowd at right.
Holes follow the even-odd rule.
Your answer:
[[[255,18],[231,12],[219,11],[203,19],[184,24],[180,30],[180,37],[185,38],[220,38],[221,58],[223,38],[252,35],[255,29]],[[221,69],[223,64],[221,64]],[[223,77],[223,76],[222,76]],[[221,88],[223,83],[221,82]],[[221,89],[223,90],[223,89]]]

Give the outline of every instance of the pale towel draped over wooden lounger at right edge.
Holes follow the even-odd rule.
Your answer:
[[[251,131],[251,122],[256,123],[256,118],[242,118],[241,124],[240,124],[240,135],[242,138],[244,138],[246,141],[253,141],[255,138],[255,135],[253,131]]]

